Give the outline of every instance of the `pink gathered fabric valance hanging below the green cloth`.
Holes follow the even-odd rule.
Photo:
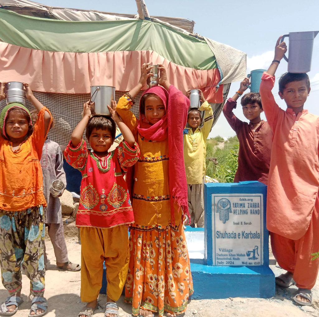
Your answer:
[[[50,52],[0,42],[0,81],[21,81],[32,90],[52,93],[90,93],[90,86],[114,86],[128,91],[139,79],[145,62],[163,64],[168,80],[186,93],[202,89],[209,102],[222,102],[218,69],[196,70],[176,65],[153,51],[101,53]],[[208,88],[204,88],[211,86]],[[146,87],[145,87],[146,89]]]

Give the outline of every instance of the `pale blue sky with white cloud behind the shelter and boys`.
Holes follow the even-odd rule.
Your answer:
[[[188,18],[195,21],[194,33],[230,45],[247,53],[247,74],[253,69],[267,69],[274,57],[274,47],[280,35],[289,32],[319,31],[319,1],[261,0],[239,2],[234,0],[144,0],[150,16]],[[52,7],[97,10],[115,13],[137,14],[135,0],[87,2],[84,0],[38,0]],[[285,40],[286,41],[286,40]],[[289,47],[289,39],[288,47]],[[287,62],[282,60],[276,77],[287,71]],[[314,40],[310,79],[310,95],[304,108],[319,115],[319,35]],[[238,90],[240,81],[231,84],[228,97]],[[246,93],[249,89],[246,90]],[[278,96],[278,84],[273,94],[279,107],[286,104]],[[239,100],[240,102],[240,100]],[[234,113],[247,121],[241,107]],[[265,119],[264,115],[262,118]],[[220,135],[232,137],[235,132],[229,127],[223,114],[220,115],[209,137]]]

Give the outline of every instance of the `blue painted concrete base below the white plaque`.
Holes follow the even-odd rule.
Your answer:
[[[208,266],[190,264],[192,299],[228,297],[270,298],[275,295],[275,276],[269,266]]]

